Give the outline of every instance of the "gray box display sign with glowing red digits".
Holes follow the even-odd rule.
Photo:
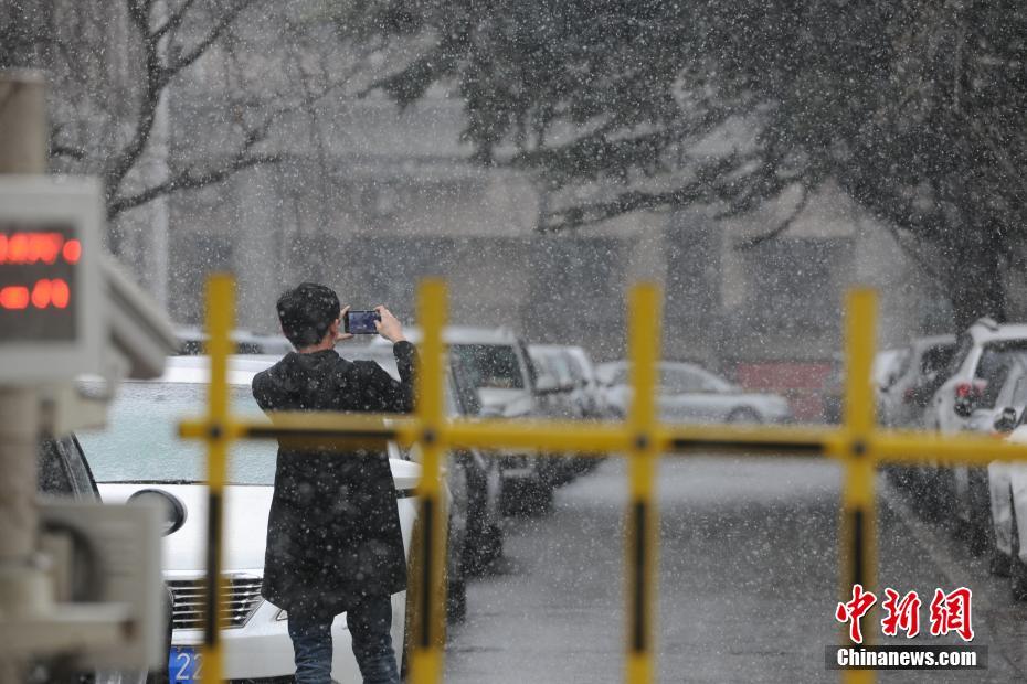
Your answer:
[[[0,383],[100,371],[99,183],[0,177]]]

